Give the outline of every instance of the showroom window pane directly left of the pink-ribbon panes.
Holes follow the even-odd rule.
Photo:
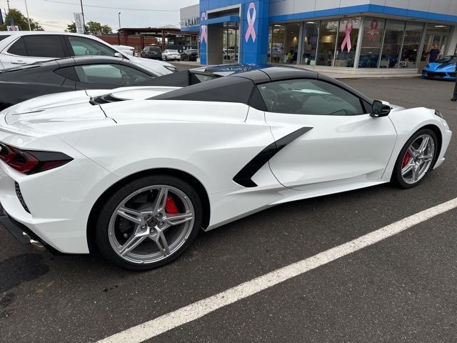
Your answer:
[[[332,66],[336,35],[338,34],[338,20],[321,21],[319,34],[316,64],[318,66]]]

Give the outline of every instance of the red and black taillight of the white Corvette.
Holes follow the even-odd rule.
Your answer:
[[[21,150],[4,143],[0,143],[0,148],[0,159],[24,174],[44,172],[73,160],[61,152]]]

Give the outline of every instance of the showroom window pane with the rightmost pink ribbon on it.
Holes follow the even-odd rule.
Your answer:
[[[384,24],[386,19],[363,19],[362,46],[360,49],[359,68],[388,68],[387,60],[379,62],[383,43]]]

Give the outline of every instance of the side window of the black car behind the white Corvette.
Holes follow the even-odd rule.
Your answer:
[[[110,84],[114,86],[130,86],[151,78],[142,71],[121,64],[88,64],[75,66],[77,81],[89,84]]]

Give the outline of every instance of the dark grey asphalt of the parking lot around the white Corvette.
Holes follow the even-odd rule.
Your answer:
[[[457,131],[452,82],[344,82],[391,104],[440,109]],[[96,342],[454,199],[456,170],[454,137],[419,187],[273,207],[201,233],[176,262],[144,273],[39,253],[0,227],[0,341]],[[148,342],[457,342],[456,219],[457,209],[439,214]]]

